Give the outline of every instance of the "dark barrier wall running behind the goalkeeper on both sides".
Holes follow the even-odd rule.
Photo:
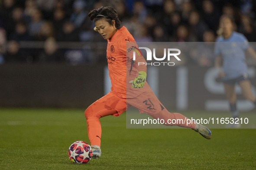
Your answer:
[[[0,65],[0,107],[87,108],[104,95],[104,67]],[[151,69],[148,66],[147,81],[153,90],[157,89],[156,95],[169,110],[228,110],[216,69],[192,65],[154,67],[153,72]],[[249,77],[256,94],[255,67],[249,67]],[[243,98],[239,88],[236,91],[239,109],[252,110],[254,105]]]

